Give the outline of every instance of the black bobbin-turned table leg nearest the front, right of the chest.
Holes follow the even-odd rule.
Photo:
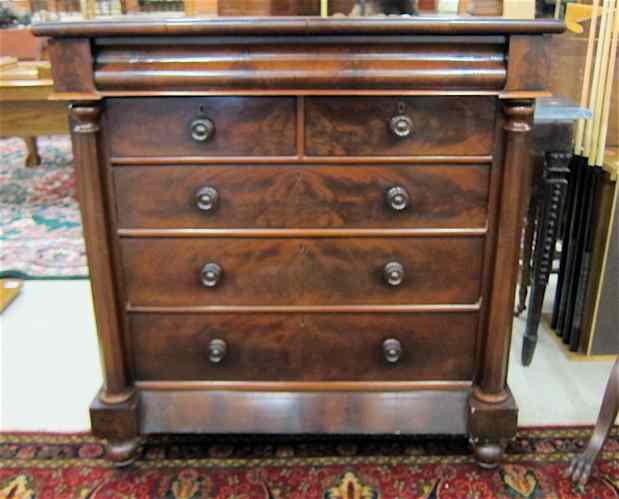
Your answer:
[[[537,331],[542,317],[542,304],[548,284],[552,261],[555,255],[559,218],[565,202],[569,153],[546,154],[543,173],[542,214],[537,227],[533,285],[529,297],[529,314],[522,343],[522,364],[528,366],[533,360],[537,345]]]

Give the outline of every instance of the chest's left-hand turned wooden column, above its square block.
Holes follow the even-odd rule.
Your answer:
[[[70,111],[77,190],[90,281],[103,363],[104,404],[126,402],[133,395],[122,336],[122,314],[115,299],[113,257],[108,231],[111,221],[105,193],[105,163],[100,144],[101,108],[98,104],[73,105]]]

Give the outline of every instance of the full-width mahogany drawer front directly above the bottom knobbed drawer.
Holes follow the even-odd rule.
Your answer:
[[[465,304],[479,297],[483,241],[124,239],[122,253],[134,305]]]

